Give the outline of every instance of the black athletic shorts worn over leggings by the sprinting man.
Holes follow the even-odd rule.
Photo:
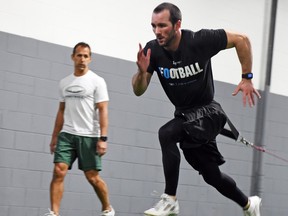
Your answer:
[[[216,136],[222,131],[227,117],[220,104],[212,101],[205,106],[176,109],[175,117],[183,118],[184,137],[180,148],[187,162],[201,173],[208,163],[222,165],[225,160],[218,150]]]

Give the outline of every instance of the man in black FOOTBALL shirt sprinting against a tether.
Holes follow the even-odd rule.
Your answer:
[[[168,216],[179,213],[176,199],[180,152],[197,170],[206,183],[222,195],[236,202],[245,216],[260,216],[261,199],[247,197],[219,166],[224,158],[218,151],[216,136],[223,129],[227,117],[219,103],[214,101],[214,84],[211,58],[219,51],[235,48],[242,67],[242,80],[233,92],[243,94],[250,106],[255,105],[251,78],[252,51],[249,39],[239,33],[224,29],[197,32],[181,30],[182,15],[179,8],[170,3],[158,5],[152,13],[152,29],[156,36],[137,54],[138,72],[132,78],[135,95],[142,95],[157,73],[160,83],[175,106],[174,118],[158,132],[162,150],[165,191],[161,200],[145,215]]]

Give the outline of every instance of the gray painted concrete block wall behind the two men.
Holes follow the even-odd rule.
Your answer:
[[[0,216],[43,215],[49,207],[52,156],[49,142],[58,109],[58,82],[73,70],[72,49],[0,32]],[[93,54],[91,69],[104,77],[110,95],[109,152],[101,175],[118,216],[142,215],[164,189],[157,131],[173,115],[157,77],[142,97],[134,96],[134,62]],[[243,108],[235,86],[216,82],[219,101],[241,133],[255,135],[256,109]],[[288,153],[288,99],[269,95],[265,145]],[[221,169],[249,194],[253,150],[219,136],[226,158]],[[287,163],[264,155],[263,215],[287,216]],[[242,215],[241,209],[208,186],[182,158],[178,187],[181,216]],[[77,163],[65,179],[61,215],[99,215],[101,206]]]

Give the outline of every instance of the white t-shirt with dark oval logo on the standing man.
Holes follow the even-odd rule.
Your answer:
[[[99,115],[96,103],[108,101],[105,80],[92,71],[83,76],[71,74],[60,81],[60,101],[65,102],[62,131],[88,137],[99,137]]]

